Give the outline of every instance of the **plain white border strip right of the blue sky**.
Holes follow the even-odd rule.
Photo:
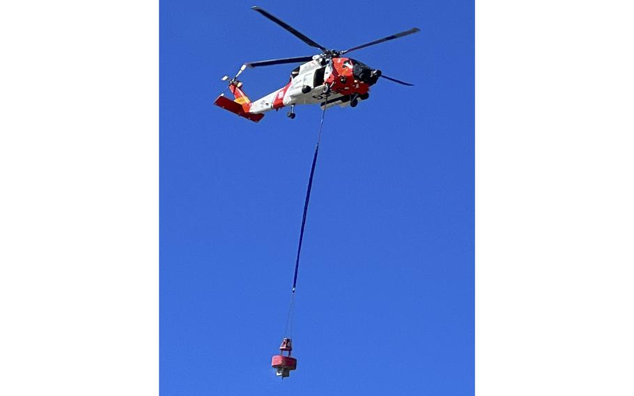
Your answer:
[[[634,395],[634,3],[476,6],[477,395]]]

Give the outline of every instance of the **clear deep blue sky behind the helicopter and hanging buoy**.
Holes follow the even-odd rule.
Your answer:
[[[353,54],[414,87],[380,80],[326,112],[284,381],[270,358],[320,109],[252,123],[213,105],[245,61],[315,53],[253,5],[337,49],[421,29]],[[472,1],[162,0],[160,13],[161,394],[473,393]],[[293,67],[246,70],[243,89],[263,96]]]

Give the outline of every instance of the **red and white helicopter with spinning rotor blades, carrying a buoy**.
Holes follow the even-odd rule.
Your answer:
[[[229,91],[231,91],[235,99],[231,100],[224,96],[224,93],[221,93],[220,96],[216,98],[214,104],[229,110],[229,112],[258,122],[264,117],[265,112],[290,106],[291,108],[286,116],[288,116],[289,119],[294,119],[295,105],[319,104],[322,109],[334,105],[356,107],[359,102],[369,98],[369,89],[373,84],[376,84],[379,78],[385,78],[406,86],[413,86],[413,84],[408,82],[387,77],[381,73],[381,70],[373,69],[360,61],[342,55],[370,47],[371,45],[385,43],[385,41],[417,33],[420,29],[416,27],[401,31],[392,36],[371,41],[370,43],[348,48],[348,50],[329,50],[263,8],[254,6],[251,9],[272,22],[275,22],[292,33],[295,37],[300,38],[304,43],[317,48],[321,52],[316,55],[245,63],[233,78],[230,79],[229,76],[222,77],[222,81],[229,81]],[[291,78],[281,89],[277,89],[254,101],[250,100],[245,92],[242,91],[242,82],[238,80],[238,76],[245,71],[246,68],[259,68],[284,63],[302,64],[291,71]]]

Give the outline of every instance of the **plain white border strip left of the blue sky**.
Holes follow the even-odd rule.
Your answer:
[[[0,394],[158,393],[158,2],[0,6]]]

